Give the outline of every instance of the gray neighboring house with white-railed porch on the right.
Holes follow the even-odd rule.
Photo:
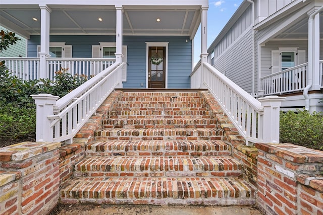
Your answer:
[[[209,46],[208,62],[251,95],[283,95],[282,109],[323,111],[322,6],[246,0]]]

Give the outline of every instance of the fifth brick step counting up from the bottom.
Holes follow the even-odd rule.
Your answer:
[[[112,118],[103,128],[216,128],[217,120],[205,118]]]

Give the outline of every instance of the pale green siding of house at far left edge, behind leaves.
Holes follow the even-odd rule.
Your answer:
[[[10,31],[7,28],[0,26],[0,31]],[[25,57],[26,56],[26,39],[17,35],[16,37],[20,38],[16,45],[10,45],[7,50],[0,52],[0,57]]]

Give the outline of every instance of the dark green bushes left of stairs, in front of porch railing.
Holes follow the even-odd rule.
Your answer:
[[[86,80],[83,76],[72,76],[63,68],[56,72],[55,81],[23,81],[12,76],[9,70],[1,70],[0,139],[9,142],[34,140],[36,106],[30,95],[48,93],[63,97]]]

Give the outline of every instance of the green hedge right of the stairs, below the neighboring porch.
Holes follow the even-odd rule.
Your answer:
[[[280,141],[323,150],[323,115],[306,110],[281,112]]]

